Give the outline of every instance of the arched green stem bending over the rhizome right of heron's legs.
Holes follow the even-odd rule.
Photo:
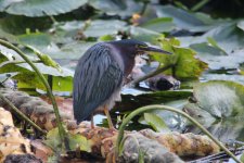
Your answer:
[[[168,105],[159,105],[159,104],[154,104],[154,105],[146,105],[146,106],[142,106],[137,109],[136,111],[131,112],[121,123],[119,130],[118,130],[118,137],[117,137],[117,141],[116,141],[116,153],[121,153],[119,149],[119,147],[121,146],[120,142],[124,138],[124,129],[126,127],[126,125],[130,122],[131,118],[133,118],[136,115],[141,114],[145,111],[152,111],[152,110],[167,110],[170,112],[175,112],[178,114],[183,115],[184,117],[187,117],[190,122],[192,122],[195,126],[197,126],[205,135],[207,135],[215,143],[217,143],[228,155],[230,155],[235,162],[237,163],[242,163],[241,161],[237,160],[237,158],[235,158],[235,155],[228,149],[226,148],[221,142],[219,142],[219,140],[217,140],[206,128],[204,128],[204,126],[202,126],[197,121],[195,121],[193,117],[191,117],[190,115],[188,115],[187,113],[175,109],[172,106],[168,106]]]

